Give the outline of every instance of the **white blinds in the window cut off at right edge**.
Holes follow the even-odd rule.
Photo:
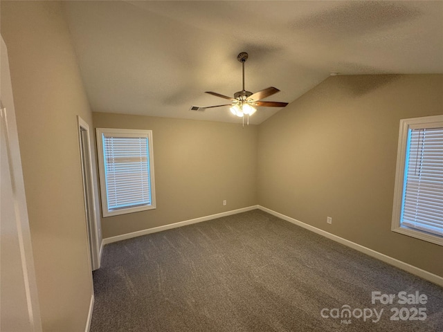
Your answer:
[[[443,237],[443,128],[408,130],[401,225]]]

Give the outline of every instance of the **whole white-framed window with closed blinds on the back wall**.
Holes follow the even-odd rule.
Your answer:
[[[96,132],[103,216],[155,209],[152,131]]]

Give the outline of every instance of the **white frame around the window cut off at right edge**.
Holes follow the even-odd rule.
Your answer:
[[[401,209],[404,201],[406,156],[408,156],[409,129],[431,129],[443,127],[443,115],[426,116],[400,120],[399,144],[397,150],[397,169],[395,172],[394,205],[392,209],[392,232],[408,235],[443,246],[443,237],[401,224]]]

